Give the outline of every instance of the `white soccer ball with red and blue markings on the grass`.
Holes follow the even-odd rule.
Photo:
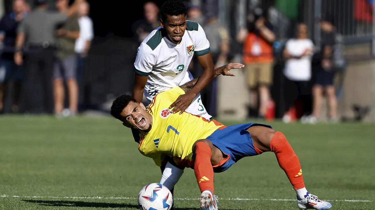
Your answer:
[[[144,186],[138,194],[138,206],[141,210],[169,210],[172,203],[171,191],[159,183]]]

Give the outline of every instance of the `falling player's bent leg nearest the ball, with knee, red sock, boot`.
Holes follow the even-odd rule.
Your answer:
[[[215,147],[210,140],[197,140],[193,145],[193,155],[195,157],[194,173],[201,190],[201,208],[217,209],[214,198],[213,187],[213,167],[223,160],[223,153]]]

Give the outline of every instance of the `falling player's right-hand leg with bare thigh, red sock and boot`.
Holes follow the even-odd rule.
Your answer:
[[[284,170],[297,194],[300,209],[329,209],[332,204],[319,200],[310,194],[303,183],[300,161],[284,134],[264,126],[252,126],[247,129],[258,154],[274,152],[279,166]]]

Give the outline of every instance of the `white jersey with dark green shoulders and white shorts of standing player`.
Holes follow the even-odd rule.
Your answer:
[[[148,102],[157,93],[192,80],[188,67],[194,53],[196,56],[202,56],[209,52],[210,43],[203,28],[196,22],[187,21],[180,44],[169,41],[162,33],[161,27],[153,30],[138,47],[134,62],[135,74],[148,76],[144,90]],[[186,112],[200,115],[207,120],[211,118],[202,105],[200,95],[190,106]]]

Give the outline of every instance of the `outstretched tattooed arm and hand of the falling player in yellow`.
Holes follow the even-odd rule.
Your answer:
[[[240,64],[240,63],[230,63],[230,64],[223,65],[222,67],[219,67],[219,68],[215,69],[214,78],[216,78],[220,74],[222,74],[224,76],[234,77],[235,74],[233,74],[232,72],[230,72],[230,70],[231,69],[236,69],[236,68],[239,69],[239,68],[243,68],[243,67],[245,67],[245,65]],[[188,81],[187,83],[181,85],[180,88],[185,93],[188,93],[190,90],[192,90],[194,88],[194,86],[196,86],[198,84],[199,80],[201,80],[201,77],[195,78],[195,79],[193,79],[191,81]],[[174,104],[175,104],[175,102],[172,104],[172,107],[174,106]]]

